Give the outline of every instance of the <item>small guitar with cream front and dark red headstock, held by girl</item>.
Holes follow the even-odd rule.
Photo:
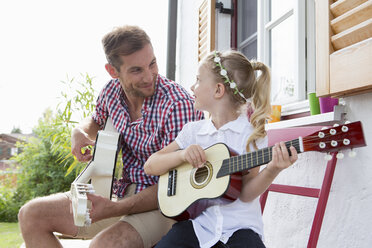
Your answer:
[[[366,146],[361,122],[321,130],[285,144],[288,149],[290,146],[295,147],[298,153],[336,152]],[[267,164],[272,159],[272,147],[230,157],[228,147],[219,143],[207,148],[205,153],[207,162],[202,168],[194,168],[188,163],[183,163],[160,176],[158,201],[165,216],[174,218],[182,214],[187,217],[187,209],[200,199],[217,198],[222,195],[236,199],[241,185],[236,173]]]

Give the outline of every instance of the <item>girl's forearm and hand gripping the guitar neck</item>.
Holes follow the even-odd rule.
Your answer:
[[[270,186],[275,177],[285,168],[288,168],[297,160],[297,151],[290,147],[292,156],[289,156],[284,142],[273,147],[273,158],[266,168],[259,172],[259,168],[251,169],[249,174],[242,178],[242,190],[240,200],[244,202],[253,201]]]

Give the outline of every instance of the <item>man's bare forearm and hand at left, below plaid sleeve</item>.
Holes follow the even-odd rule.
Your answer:
[[[83,120],[80,125],[72,130],[71,134],[71,152],[81,162],[87,162],[92,159],[90,152],[82,153],[81,148],[88,145],[94,145],[99,125],[92,119]]]

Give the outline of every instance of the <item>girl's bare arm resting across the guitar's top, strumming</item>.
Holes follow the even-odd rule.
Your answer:
[[[144,165],[145,173],[158,176],[184,162],[188,162],[194,167],[201,167],[206,161],[205,152],[199,145],[190,145],[185,150],[179,149],[177,142],[173,141],[152,154]]]

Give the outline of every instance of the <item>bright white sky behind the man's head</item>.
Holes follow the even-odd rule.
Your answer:
[[[168,0],[0,1],[0,133],[31,133],[68,78],[87,73],[98,93],[110,79],[101,40],[114,27],[143,28],[165,75],[167,22]]]

